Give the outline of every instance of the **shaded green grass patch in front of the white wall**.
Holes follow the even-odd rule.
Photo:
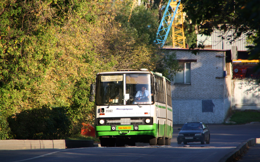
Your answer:
[[[237,124],[246,124],[253,121],[260,122],[260,112],[234,112],[230,118],[230,121],[234,121]]]

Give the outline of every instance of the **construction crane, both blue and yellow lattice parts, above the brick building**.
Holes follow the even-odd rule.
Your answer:
[[[164,46],[172,27],[173,48],[185,48],[183,12],[180,0],[169,0],[157,30],[155,44]],[[164,9],[164,8],[163,8]]]

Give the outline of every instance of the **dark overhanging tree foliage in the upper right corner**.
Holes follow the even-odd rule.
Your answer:
[[[197,24],[199,34],[211,35],[213,29],[223,32],[233,31],[232,35],[222,36],[230,43],[245,34],[251,36],[254,46],[250,47],[252,57],[260,59],[260,3],[257,0],[192,1],[182,0],[188,21]]]

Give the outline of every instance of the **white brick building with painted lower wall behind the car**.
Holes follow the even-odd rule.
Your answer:
[[[171,82],[173,123],[222,123],[231,107],[230,50],[164,49],[185,67]]]

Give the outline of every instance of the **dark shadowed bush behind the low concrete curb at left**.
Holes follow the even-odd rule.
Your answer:
[[[70,135],[71,123],[64,107],[25,110],[10,116],[8,122],[15,139],[53,140]]]

